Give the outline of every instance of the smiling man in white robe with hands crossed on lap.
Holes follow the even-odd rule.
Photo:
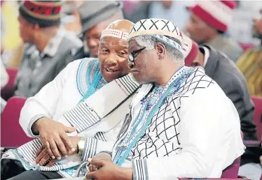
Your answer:
[[[126,39],[132,25],[127,20],[112,22],[102,31],[99,59],[69,63],[26,101],[20,125],[37,138],[3,155],[1,179],[74,177],[82,161],[116,141],[139,87],[127,75]]]

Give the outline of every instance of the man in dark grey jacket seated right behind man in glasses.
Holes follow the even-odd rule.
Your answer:
[[[182,38],[186,44],[195,43],[185,34],[182,34]],[[206,75],[219,84],[219,87],[235,105],[240,116],[244,140],[257,140],[256,125],[253,123],[254,103],[250,98],[244,75],[231,59],[210,45],[201,45],[195,51],[197,53],[191,57],[191,64],[186,62],[186,65],[202,66],[205,69]]]

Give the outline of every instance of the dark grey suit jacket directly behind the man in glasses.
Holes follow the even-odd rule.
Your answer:
[[[223,91],[226,96],[232,100],[240,116],[241,130],[244,133],[244,140],[257,140],[256,125],[253,123],[254,103],[252,102],[249,90],[247,88],[247,81],[244,75],[237,68],[235,63],[229,59],[225,54],[214,50],[209,45],[204,45],[209,49],[209,58],[205,66],[205,73],[211,77]],[[201,47],[200,47],[200,51]],[[251,157],[254,153],[246,150],[242,156],[242,162],[254,162],[258,157]],[[257,159],[256,159],[257,158]]]

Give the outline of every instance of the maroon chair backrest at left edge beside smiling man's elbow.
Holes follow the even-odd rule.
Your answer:
[[[26,98],[14,96],[7,101],[1,114],[1,147],[20,147],[33,140],[27,137],[19,124],[20,111]]]

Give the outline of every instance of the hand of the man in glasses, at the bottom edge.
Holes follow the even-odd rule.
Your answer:
[[[99,170],[95,172],[88,172],[85,174],[86,179],[95,180],[132,180],[132,168],[119,167],[113,164],[110,160],[94,160],[89,158],[88,162],[91,165],[100,167]]]

